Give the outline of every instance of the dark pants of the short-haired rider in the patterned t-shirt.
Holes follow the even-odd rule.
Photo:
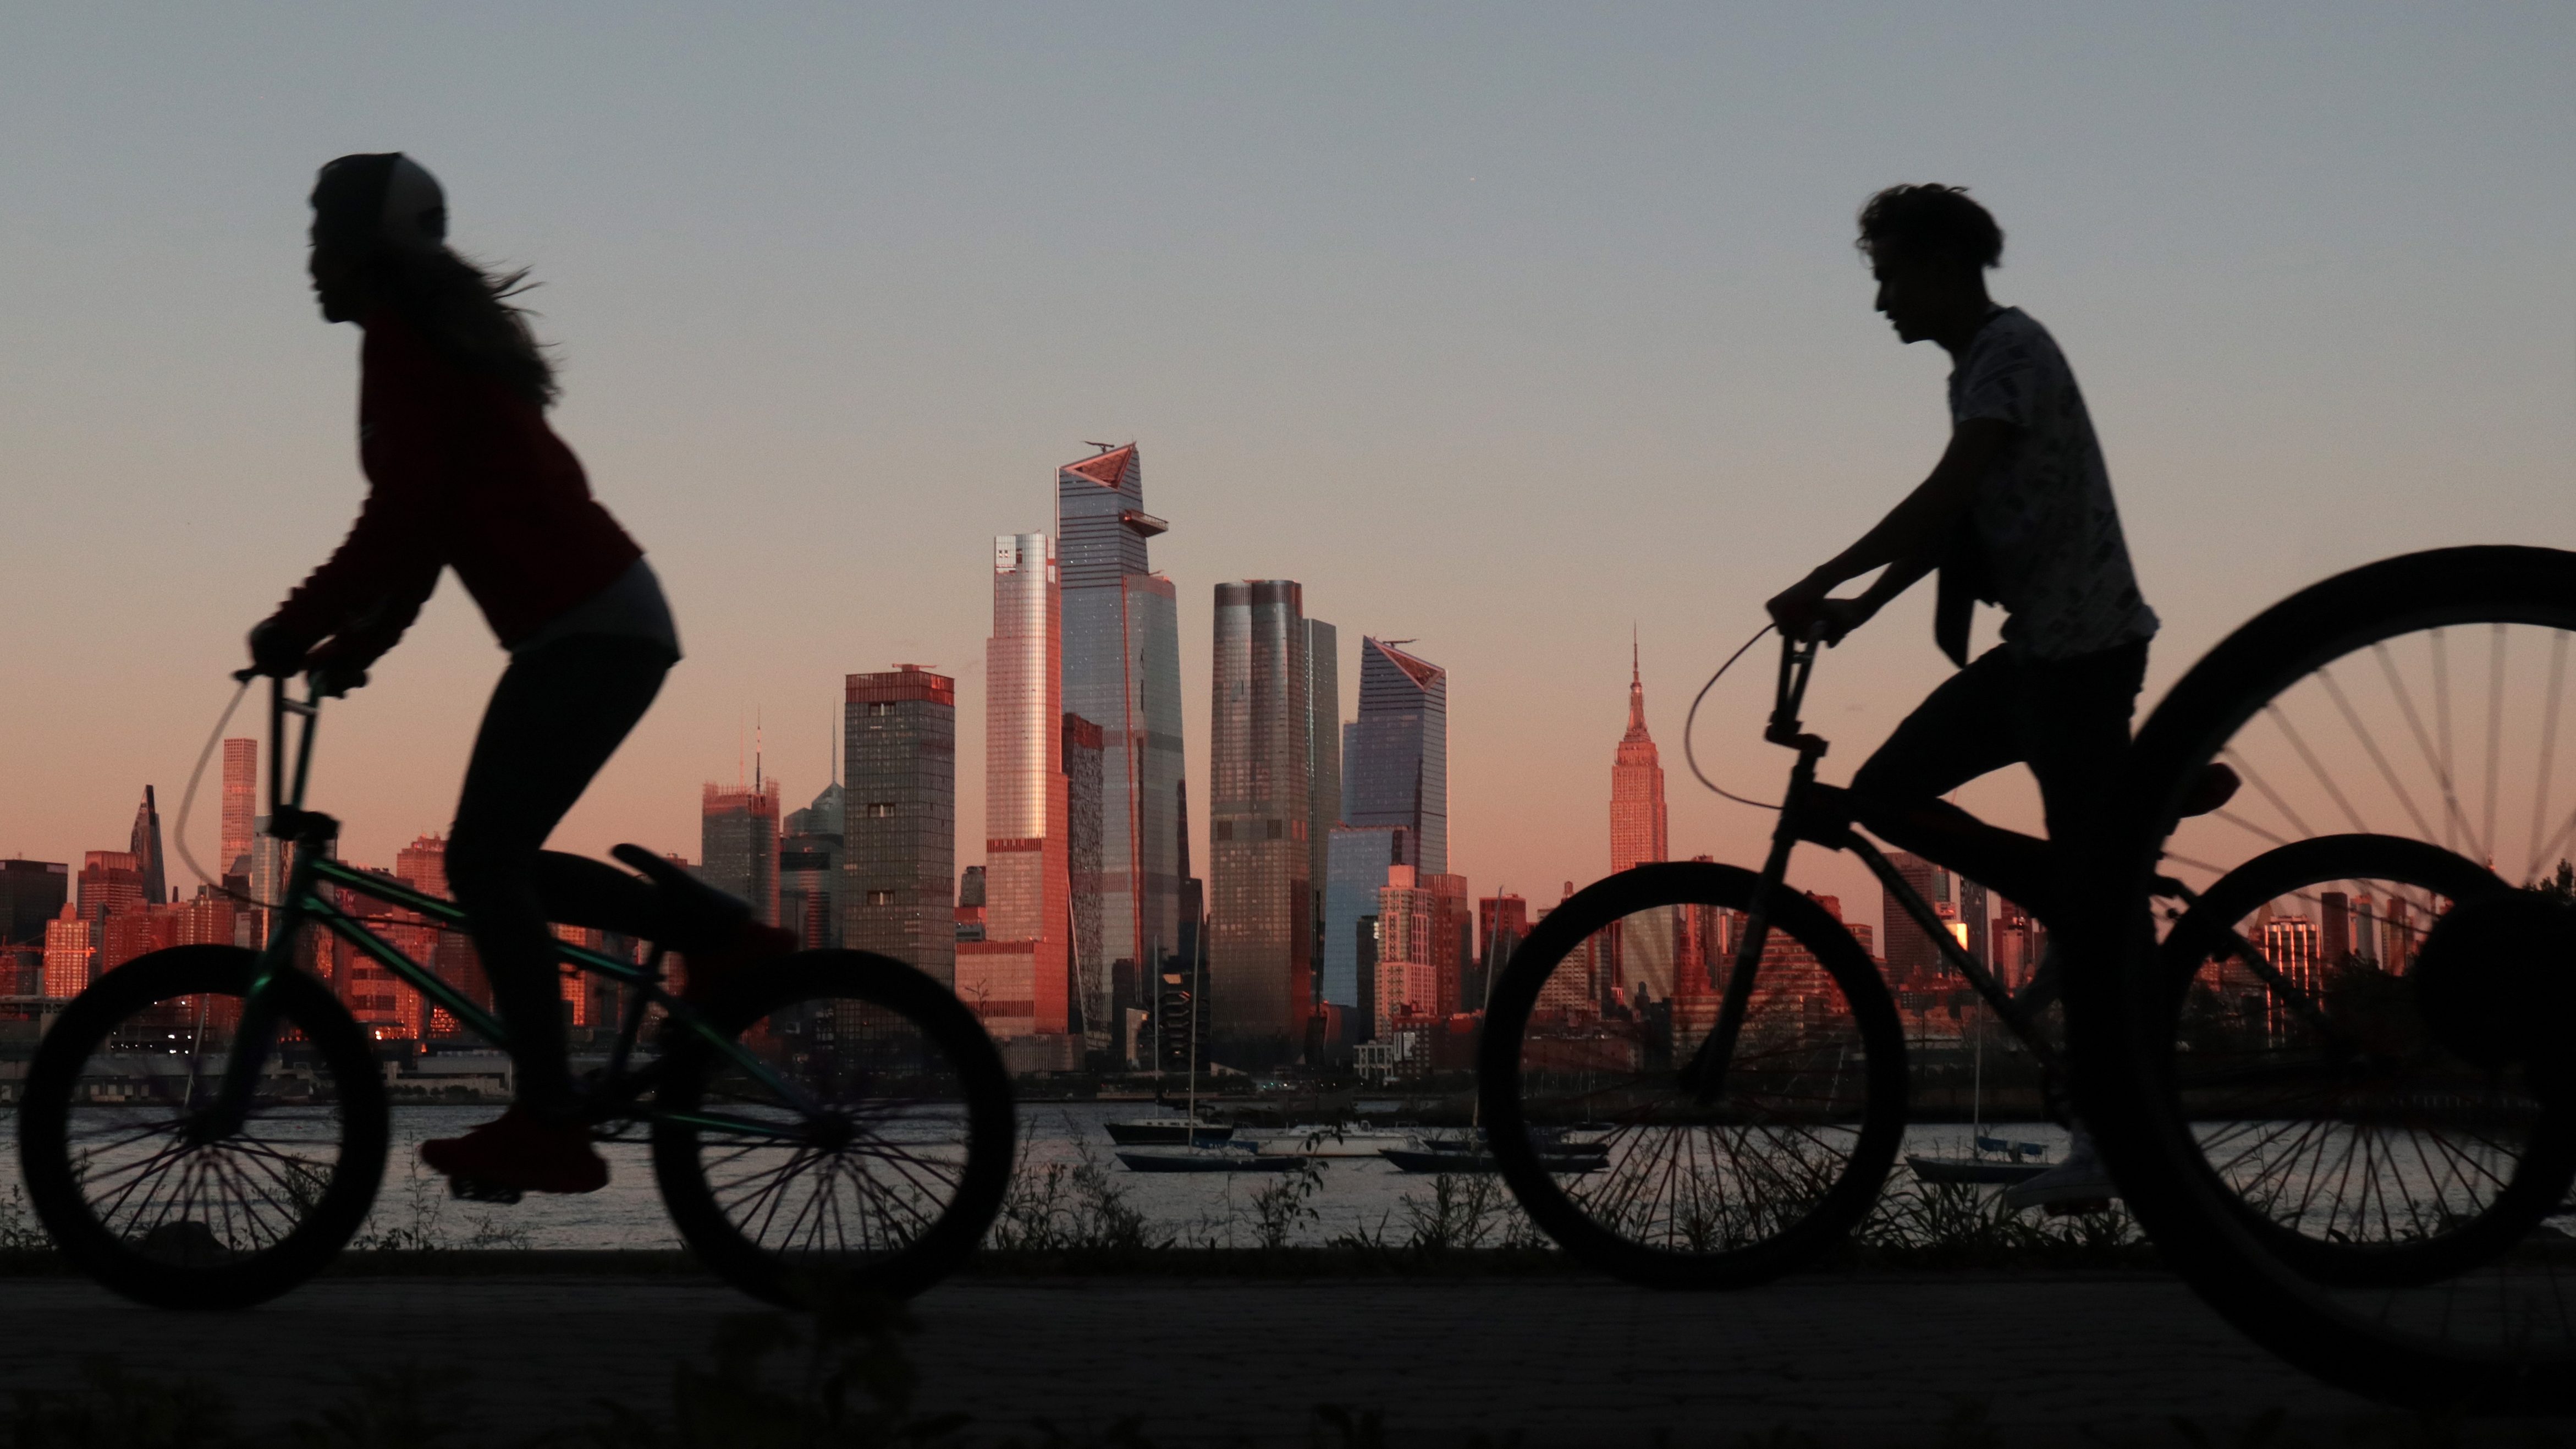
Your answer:
[[[2048,841],[1986,825],[1942,797],[2027,763],[2053,841],[2074,841],[2128,753],[2146,639],[2074,660],[1986,650],[1935,688],[1852,776],[1852,817],[2058,926],[2066,884]]]

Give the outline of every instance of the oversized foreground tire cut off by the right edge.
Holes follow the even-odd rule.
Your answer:
[[[2275,603],[2174,683],[2138,732],[2115,807],[2079,846],[2079,879],[2092,882],[2079,967],[2112,969],[2069,972],[2074,1085],[2164,1261],[2272,1354],[2406,1408],[2566,1413],[2576,1410],[2568,1338],[2452,1341],[2396,1323],[2385,1307],[2372,1315],[2357,1294],[2298,1271],[2202,1158],[2174,1096],[2174,1039],[2164,1026],[2172,987],[2148,897],[2202,766],[2311,670],[2406,632],[2455,624],[2576,629],[2576,554],[2463,547],[2365,565]]]

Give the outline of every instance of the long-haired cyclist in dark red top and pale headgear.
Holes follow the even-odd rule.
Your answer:
[[[492,1003],[510,1029],[518,1104],[420,1147],[440,1173],[520,1191],[592,1191],[590,1142],[564,1060],[549,920],[690,951],[690,995],[793,944],[708,892],[672,902],[616,866],[544,851],[572,802],[644,717],[680,637],[644,549],[546,425],[554,369],[489,276],[446,245],[438,180],[402,152],[348,155],[312,193],[322,320],[366,333],[358,462],[368,495],[348,541],[250,632],[263,673],[366,683],[456,570],[510,652],[466,766],[446,869]]]

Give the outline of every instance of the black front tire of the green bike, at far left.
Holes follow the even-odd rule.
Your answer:
[[[384,1181],[392,1122],[384,1098],[384,1075],[376,1067],[366,1031],[330,995],[330,987],[304,972],[286,972],[270,985],[281,1011],[281,1036],[286,1029],[304,1036],[314,1052],[314,1065],[330,1078],[327,1091],[337,1111],[289,1116],[289,1098],[281,1096],[273,1114],[263,1116],[255,1109],[252,1122],[273,1122],[278,1132],[286,1132],[289,1124],[314,1122],[327,1127],[337,1122],[335,1155],[327,1171],[314,1171],[301,1155],[276,1145],[317,1142],[317,1137],[301,1132],[263,1142],[255,1152],[242,1150],[240,1155],[252,1168],[265,1171],[268,1181],[281,1183],[289,1194],[286,1207],[299,1209],[294,1227],[247,1253],[229,1248],[229,1243],[216,1243],[219,1235],[258,1238],[263,1217],[255,1212],[255,1204],[245,1201],[240,1209],[224,1204],[214,1225],[204,1217],[175,1217],[155,1222],[137,1238],[103,1222],[98,1204],[82,1191],[85,1173],[100,1165],[103,1142],[116,1147],[149,1142],[152,1137],[142,1134],[116,1142],[106,1132],[75,1132],[75,1106],[80,1098],[93,1096],[93,1114],[121,1111],[121,1122],[126,1124],[144,1122],[142,1132],[173,1134],[191,1106],[211,1096],[211,1083],[222,1080],[224,1049],[206,1042],[196,1044],[191,1067],[198,1065],[198,1057],[209,1057],[214,1073],[206,1078],[191,1070],[175,1114],[167,1116],[167,1129],[155,1124],[173,1106],[170,1101],[147,1098],[134,1106],[131,1098],[100,1101],[95,1093],[82,1093],[82,1067],[90,1057],[113,1039],[118,1026],[139,1021],[155,1006],[183,998],[245,995],[255,969],[258,957],[240,946],[173,946],[137,957],[72,998],[62,1016],[54,1018],[54,1029],[44,1034],[28,1065],[26,1101],[18,1109],[18,1165],[26,1173],[26,1191],[36,1220],[54,1235],[54,1243],[75,1269],[137,1302],[219,1310],[250,1307],[278,1297],[322,1271],[340,1253],[366,1222],[366,1212]],[[147,1078],[144,1088],[165,1091],[157,1078]],[[124,1129],[118,1134],[124,1137]],[[242,1145],[250,1140],[237,1134],[219,1142],[188,1145],[178,1155],[167,1155],[167,1150],[160,1155],[147,1152],[142,1165],[108,1155],[106,1173],[113,1176],[129,1168],[134,1173],[165,1173],[175,1165],[180,1173],[178,1191],[191,1194],[173,1201],[180,1212],[201,1201],[193,1196],[198,1189],[188,1186],[191,1176],[198,1173],[193,1163],[204,1163],[204,1176],[216,1189],[263,1191],[268,1196],[263,1178],[252,1176],[252,1168],[240,1168],[240,1176],[227,1178],[214,1165],[216,1152],[227,1142]],[[278,1176],[281,1165],[286,1176]],[[312,1191],[309,1176],[327,1181],[319,1191]],[[134,1181],[142,1181],[142,1176]],[[108,1217],[116,1217],[116,1209],[134,1199],[131,1194],[131,1186],[118,1194]],[[149,1209],[157,1194],[157,1186],[144,1194],[137,1214]],[[301,1201],[307,1194],[309,1204]],[[211,1199],[204,1201],[211,1207]],[[222,1232],[216,1232],[216,1225]],[[216,1258],[216,1253],[224,1256]]]

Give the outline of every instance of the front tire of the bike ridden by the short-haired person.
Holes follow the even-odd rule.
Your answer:
[[[1512,951],[1512,962],[1494,987],[1479,1049],[1476,1091],[1497,1168],[1530,1222],[1592,1269],[1656,1289],[1734,1289],[1775,1279],[1850,1238],[1878,1201],[1896,1163],[1906,1127],[1906,1057],[1896,1003],[1860,941],[1824,908],[1793,890],[1777,890],[1765,908],[1770,931],[1806,946],[1824,967],[1842,993],[1850,1024],[1865,1049],[1862,1122],[1826,1191],[1785,1222],[1767,1220],[1767,1230],[1757,1238],[1716,1250],[1677,1250],[1623,1235],[1618,1225],[1589,1212],[1584,1199],[1569,1191],[1543,1160],[1525,1104],[1522,1062],[1538,993],[1556,967],[1613,920],[1677,905],[1747,910],[1759,887],[1762,877],[1754,871],[1700,861],[1649,864],[1613,874],[1548,913]],[[1667,1085],[1677,1098],[1687,1096],[1677,1080]]]

